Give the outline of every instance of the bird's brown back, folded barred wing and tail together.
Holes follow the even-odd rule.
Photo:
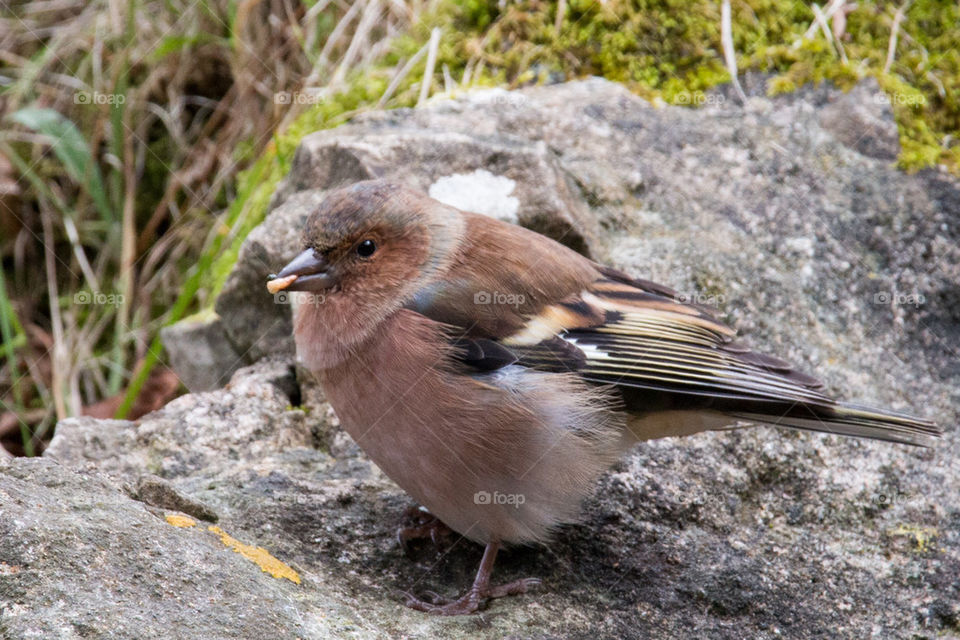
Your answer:
[[[709,411],[911,444],[939,433],[925,420],[837,402],[815,378],[735,340],[716,310],[667,287],[526,229],[464,216],[462,253],[407,308],[451,327],[468,371],[516,363],[576,373],[615,388],[640,417]]]

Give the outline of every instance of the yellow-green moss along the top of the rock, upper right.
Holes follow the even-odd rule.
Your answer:
[[[960,151],[960,7],[914,2],[900,25],[896,56],[884,74],[893,16],[900,2],[859,3],[841,40],[847,57],[816,31],[810,8],[791,0],[733,4],[733,38],[741,71],[773,74],[771,94],[829,81],[849,89],[876,77],[900,127],[900,164],[937,163],[954,171]],[[441,3],[411,30],[406,55],[444,29],[440,60],[462,72],[467,61],[483,78],[514,87],[545,77],[598,75],[646,98],[696,105],[703,91],[728,82],[722,63],[719,4],[713,0],[571,0],[559,31],[556,4],[538,0]],[[438,65],[439,69],[439,65]],[[439,77],[439,72],[438,72]],[[458,77],[454,73],[454,77]]]

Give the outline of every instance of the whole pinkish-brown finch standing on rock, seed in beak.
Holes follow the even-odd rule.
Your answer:
[[[485,545],[473,614],[536,578],[492,583],[498,551],[576,522],[635,444],[774,425],[931,446],[933,422],[839,401],[750,349],[720,312],[535,231],[378,179],[329,191],[267,278],[291,296],[298,360],[369,458],[438,525]]]

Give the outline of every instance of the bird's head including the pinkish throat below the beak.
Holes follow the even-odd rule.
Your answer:
[[[353,345],[430,290],[452,262],[464,226],[458,210],[383,180],[329,193],[307,218],[300,254],[267,283],[274,294],[295,292],[301,360],[314,370],[342,362]]]

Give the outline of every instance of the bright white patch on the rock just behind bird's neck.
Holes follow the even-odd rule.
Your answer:
[[[430,185],[430,197],[451,207],[517,223],[520,201],[510,195],[517,183],[486,169],[444,176]]]

